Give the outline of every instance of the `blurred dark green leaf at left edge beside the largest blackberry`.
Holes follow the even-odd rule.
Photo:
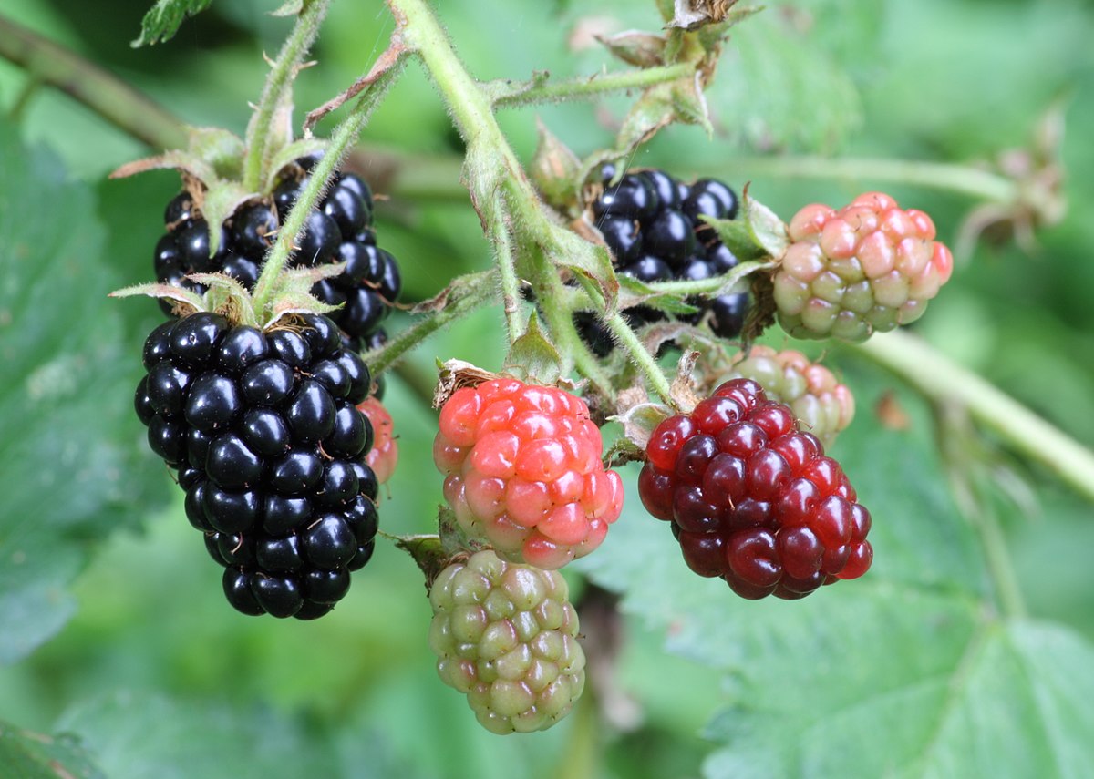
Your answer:
[[[72,615],[92,542],[135,527],[167,485],[132,412],[140,341],[101,263],[89,190],[0,128],[0,663]],[[58,216],[63,216],[59,229]],[[138,336],[139,338],[139,336]]]

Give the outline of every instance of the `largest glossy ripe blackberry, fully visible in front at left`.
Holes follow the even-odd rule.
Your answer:
[[[325,316],[260,332],[200,312],[144,344],[137,415],[244,614],[314,619],[372,556],[369,369]]]

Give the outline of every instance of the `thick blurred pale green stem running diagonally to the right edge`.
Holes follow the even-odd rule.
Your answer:
[[[1076,492],[1094,500],[1094,452],[962,368],[926,342],[904,333],[874,335],[851,347],[897,374],[927,397],[957,402],[1015,450],[1051,470]]]

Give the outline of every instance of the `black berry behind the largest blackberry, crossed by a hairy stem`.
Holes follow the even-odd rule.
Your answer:
[[[300,196],[307,170],[315,159],[289,165],[270,197],[249,201],[229,218],[220,235],[217,254],[209,256],[209,225],[188,191],[177,195],[164,212],[167,232],[155,247],[155,275],[166,282],[198,292],[200,284],[188,274],[222,271],[253,289],[263,258],[272,245],[279,225]],[[386,340],[381,327],[399,295],[401,280],[395,258],[376,246],[372,226],[372,191],[352,173],[339,173],[318,208],[307,217],[300,246],[290,260],[294,266],[346,263],[346,270],[315,284],[312,292],[330,305],[342,307],[330,318],[346,334],[356,351],[372,349]],[[166,313],[170,306],[161,302]]]

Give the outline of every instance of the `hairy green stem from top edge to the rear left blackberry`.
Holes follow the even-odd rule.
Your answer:
[[[243,186],[247,191],[258,191],[270,155],[270,141],[275,137],[274,123],[284,104],[291,100],[292,81],[304,56],[319,33],[319,23],[326,15],[330,0],[307,0],[296,16],[289,37],[281,45],[274,67],[266,79],[258,108],[247,124],[247,150],[243,161]],[[288,121],[288,116],[280,117]],[[287,128],[291,137],[291,128]]]

